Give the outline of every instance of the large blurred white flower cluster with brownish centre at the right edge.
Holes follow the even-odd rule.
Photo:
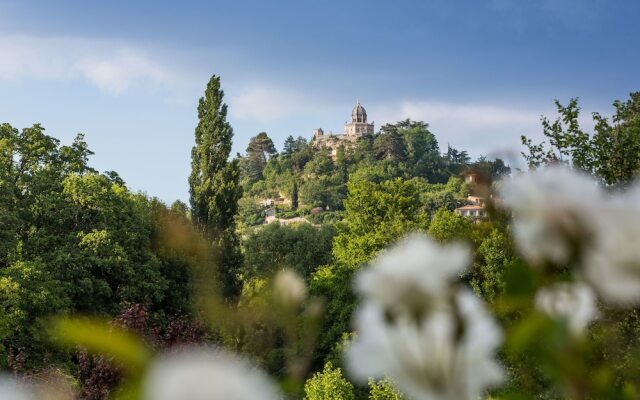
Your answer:
[[[530,263],[567,267],[573,257],[582,266],[576,278],[604,301],[640,303],[640,187],[608,195],[592,178],[553,166],[507,182],[502,197]]]

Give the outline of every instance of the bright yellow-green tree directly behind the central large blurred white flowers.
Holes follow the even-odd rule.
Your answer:
[[[377,183],[356,176],[349,181],[345,218],[333,242],[335,262],[318,268],[310,285],[313,294],[327,299],[317,359],[329,354],[350,329],[356,303],[350,284],[354,272],[403,235],[427,228],[428,213],[420,200],[424,184],[418,178]]]

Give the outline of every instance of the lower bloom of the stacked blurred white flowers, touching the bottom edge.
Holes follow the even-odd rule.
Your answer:
[[[502,380],[493,354],[502,335],[472,293],[454,297],[417,321],[407,314],[389,321],[379,303],[366,303],[356,314],[349,372],[362,382],[388,376],[416,399],[478,399]]]

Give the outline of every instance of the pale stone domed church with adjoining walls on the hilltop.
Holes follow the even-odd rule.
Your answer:
[[[338,147],[353,146],[356,141],[364,136],[373,135],[373,122],[367,123],[367,111],[360,105],[360,100],[351,111],[351,122],[344,124],[344,132],[339,134],[324,134],[322,128],[313,131],[313,144],[315,147],[328,147],[331,156],[336,157]]]

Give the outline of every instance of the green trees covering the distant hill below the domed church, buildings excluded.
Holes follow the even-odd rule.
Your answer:
[[[263,136],[265,140],[268,138],[266,134]],[[288,198],[294,208],[304,205],[343,210],[347,185],[353,180],[381,183],[395,178],[422,178],[431,185],[446,184],[442,190],[425,186],[425,193],[432,193],[432,198],[426,195],[423,199],[427,209],[431,213],[442,207],[453,210],[464,204],[466,194],[463,192],[467,190],[466,186],[455,193],[449,190],[447,182],[457,175],[469,167],[486,170],[495,178],[509,172],[499,160],[482,158],[472,164],[465,151],[449,148],[441,155],[435,136],[421,121],[386,124],[379,133],[362,137],[355,145],[339,146],[333,157],[326,147],[316,147],[302,137],[289,136],[280,155],[259,150],[252,153],[256,154],[252,158],[249,150],[255,147],[252,144],[257,138],[252,138],[247,156],[239,159],[245,193],[258,199]],[[252,159],[257,161],[251,162]]]

